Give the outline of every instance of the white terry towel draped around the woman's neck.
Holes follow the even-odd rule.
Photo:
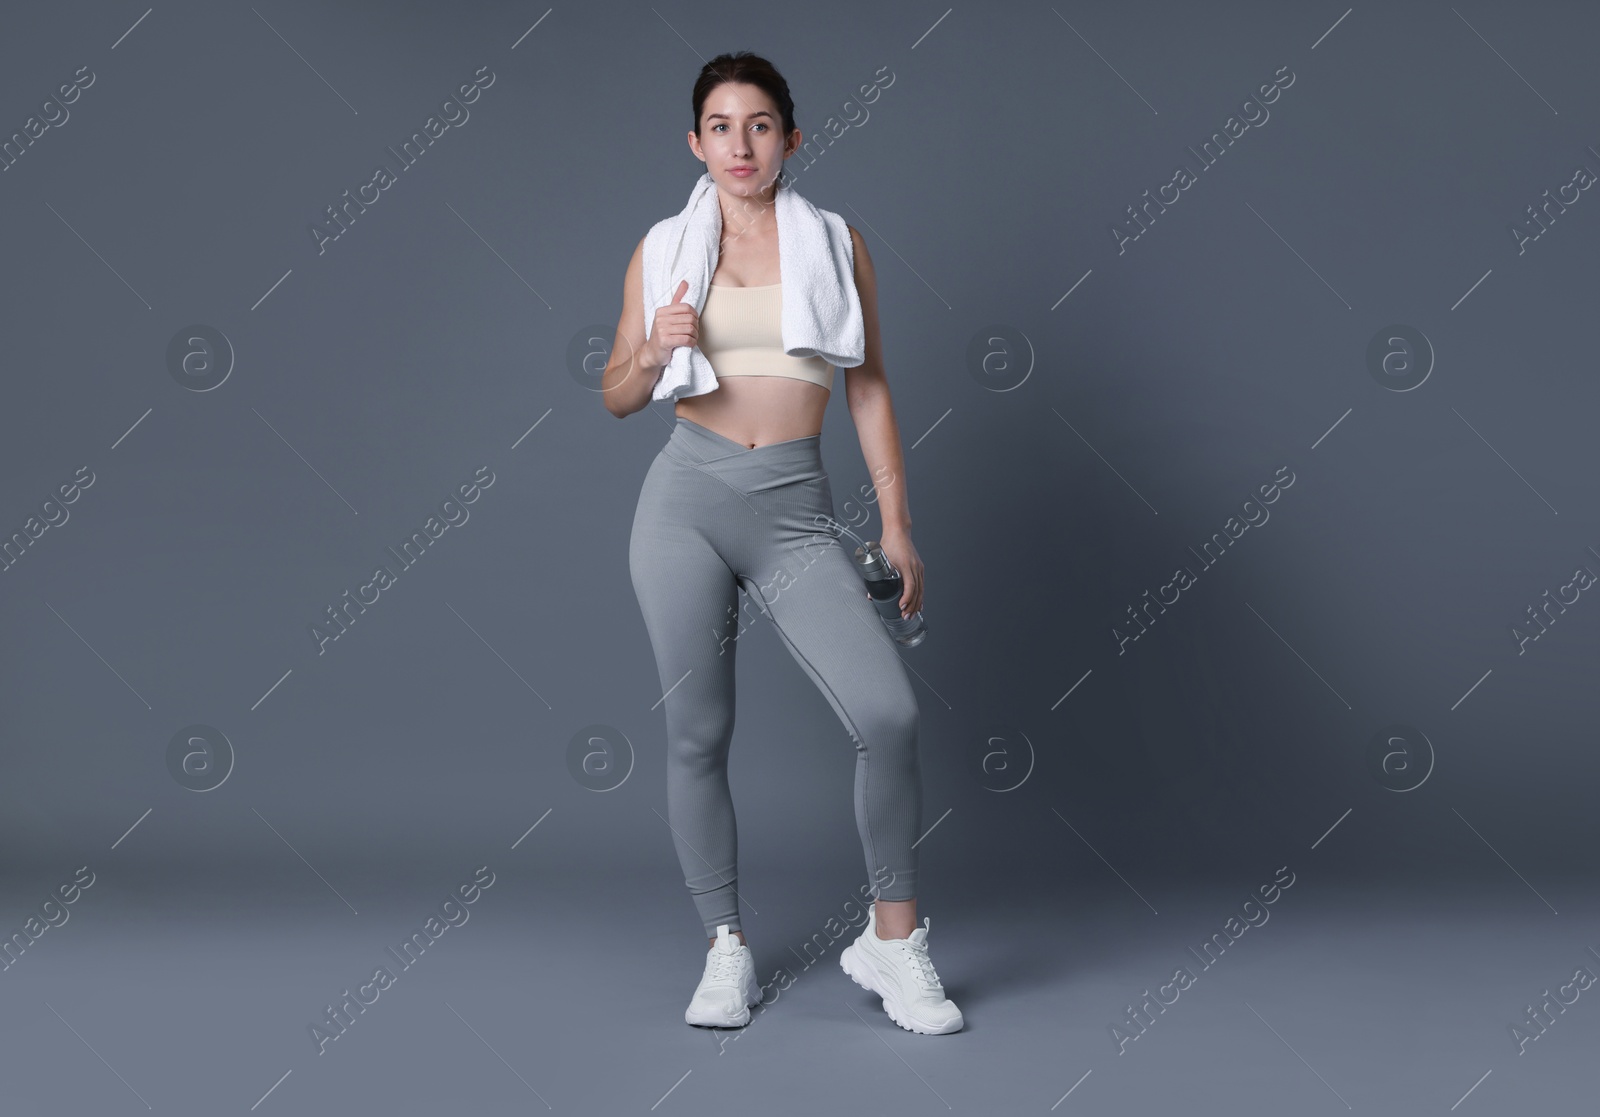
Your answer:
[[[856,291],[854,245],[845,219],[778,187],[778,278],[782,290],[782,339],[790,357],[821,357],[837,368],[854,368],[867,357],[866,322]],[[645,333],[656,309],[672,302],[680,280],[688,280],[683,302],[699,314],[722,243],[722,206],[710,171],[701,174],[683,211],[658,221],[645,235]],[[699,346],[675,346],[661,370],[653,398],[678,400],[717,390],[717,373]]]

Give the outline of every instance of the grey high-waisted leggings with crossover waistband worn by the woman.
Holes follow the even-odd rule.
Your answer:
[[[834,514],[821,435],[750,450],[682,416],[638,493],[629,571],[666,695],[667,823],[707,936],[718,923],[739,930],[728,746],[734,651],[752,623],[738,608],[741,587],[854,741],[856,829],[874,895],[917,895],[917,696],[818,514]]]

